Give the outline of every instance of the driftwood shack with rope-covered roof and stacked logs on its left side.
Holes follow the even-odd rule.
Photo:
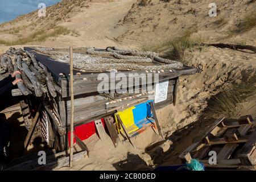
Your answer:
[[[68,148],[71,121],[68,51],[68,48],[24,47],[2,55],[1,67],[11,72],[13,69],[9,67],[13,65],[14,70],[22,72],[24,80],[23,85],[13,90],[13,96],[25,95],[27,100],[20,104],[28,129],[25,148],[37,125],[49,148],[57,151]],[[11,61],[8,55],[16,57]],[[175,105],[179,77],[199,72],[154,52],[116,47],[75,47],[73,59],[74,125],[79,127],[105,118],[109,133],[117,133],[114,114],[118,111],[150,100],[154,101],[152,111],[156,117],[155,109]],[[40,112],[33,113],[34,107]],[[40,118],[40,123],[33,122],[29,115],[34,120]]]

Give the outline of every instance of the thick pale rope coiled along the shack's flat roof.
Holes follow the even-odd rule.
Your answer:
[[[108,71],[110,69],[119,70],[137,70],[137,71],[164,71],[170,69],[181,69],[183,64],[178,61],[163,59],[157,53],[150,51],[137,51],[132,49],[118,49],[116,47],[108,47],[106,51],[96,51],[94,47],[74,47],[74,49],[82,49],[89,55],[113,56],[117,59],[109,59],[104,57],[92,57],[80,53],[74,53],[74,68],[85,71]],[[68,63],[69,54],[68,47],[63,48],[45,48],[36,47],[36,51],[53,55]],[[153,63],[153,60],[164,65],[138,65],[143,63]]]

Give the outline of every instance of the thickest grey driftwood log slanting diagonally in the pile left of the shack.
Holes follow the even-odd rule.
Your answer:
[[[27,75],[27,77],[30,79],[33,85],[36,97],[41,97],[43,95],[43,90],[38,79],[35,77],[35,74],[30,71],[26,63],[22,63],[22,68],[24,73]]]

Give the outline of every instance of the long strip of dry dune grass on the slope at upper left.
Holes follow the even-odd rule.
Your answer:
[[[31,42],[44,42],[48,38],[56,38],[59,35],[72,35],[72,36],[80,36],[79,33],[75,30],[70,30],[66,27],[57,26],[52,30],[39,30],[35,31],[29,36],[21,37],[16,40],[8,41],[8,40],[0,40],[0,44],[5,44],[6,46],[15,46],[15,45],[24,45]]]

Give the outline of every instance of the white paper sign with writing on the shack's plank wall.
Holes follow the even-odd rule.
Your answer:
[[[167,100],[169,81],[160,82],[155,85],[155,103]]]

